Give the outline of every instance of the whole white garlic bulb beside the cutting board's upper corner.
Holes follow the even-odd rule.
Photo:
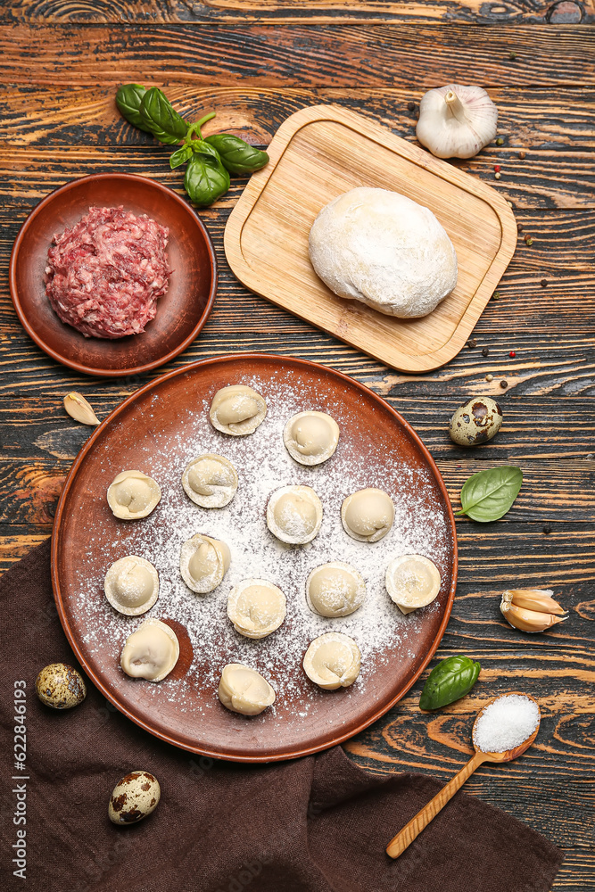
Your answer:
[[[496,136],[498,109],[482,87],[449,84],[419,103],[417,139],[438,158],[472,158]]]

